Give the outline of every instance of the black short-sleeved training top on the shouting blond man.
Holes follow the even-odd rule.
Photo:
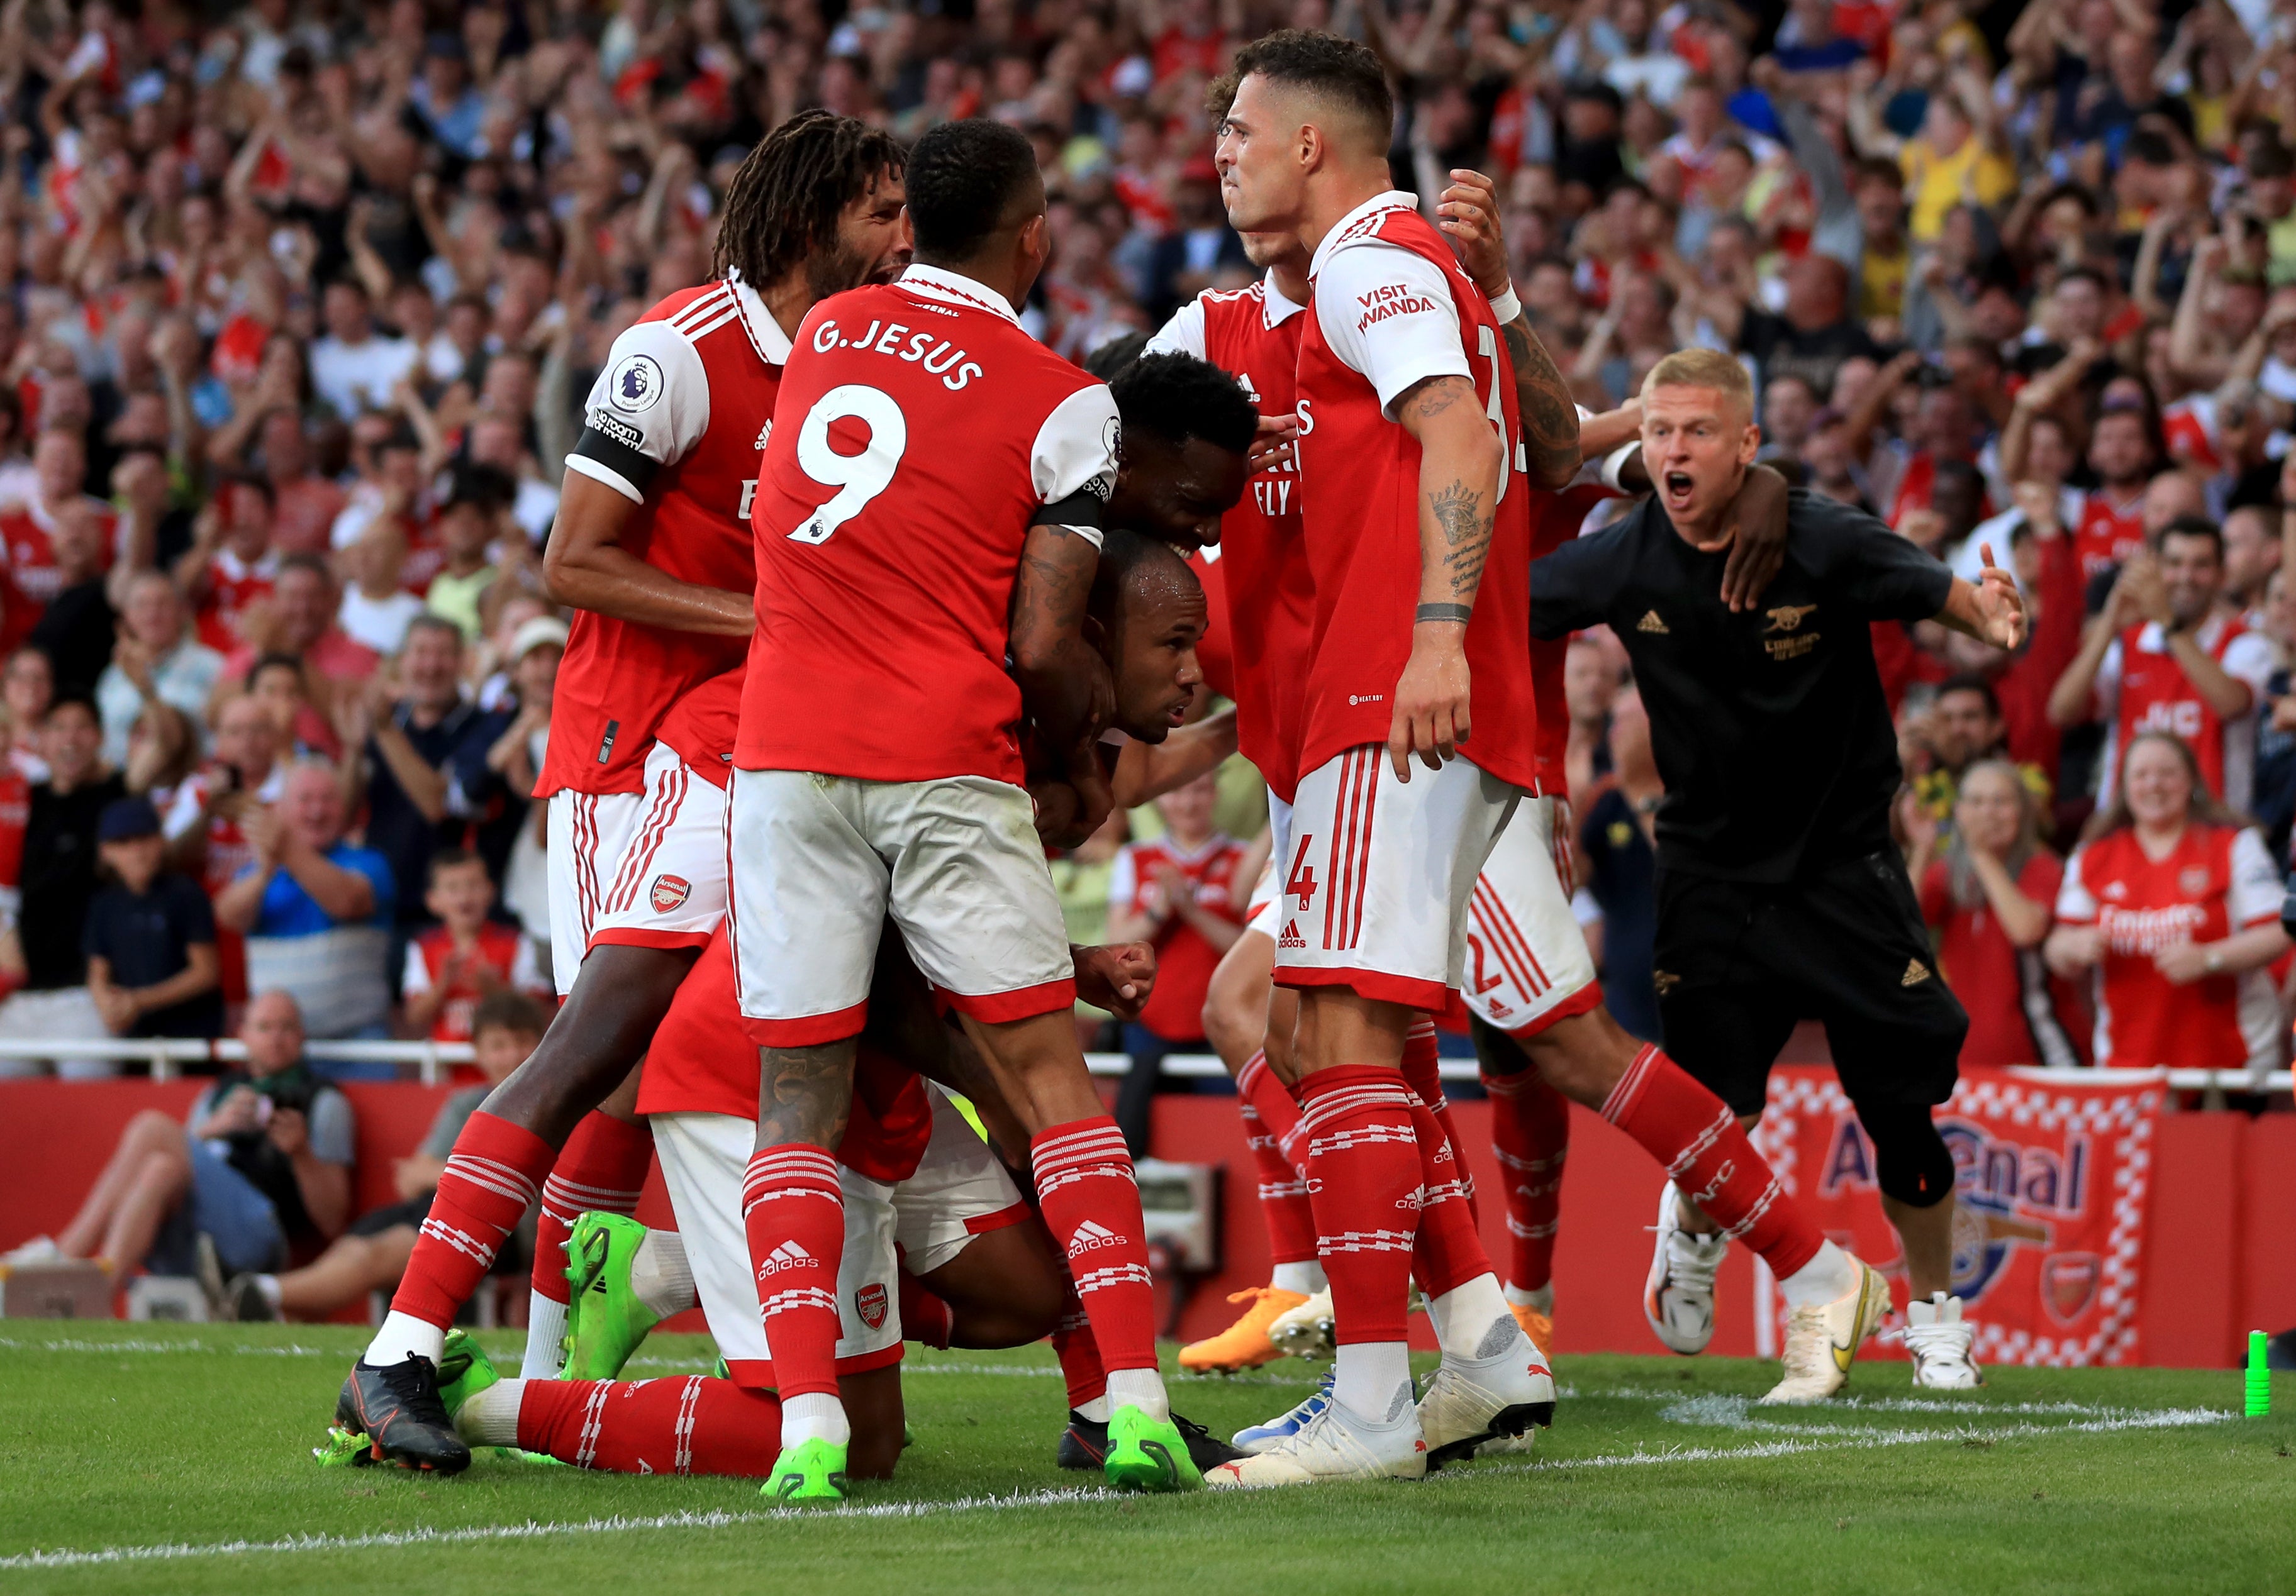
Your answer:
[[[1795,489],[1786,563],[1754,611],[1722,604],[1658,498],[1531,565],[1531,634],[1609,625],[1626,643],[1667,781],[1658,863],[1791,882],[1890,845],[1896,733],[1874,620],[1926,620],[1954,576],[1887,526]]]

